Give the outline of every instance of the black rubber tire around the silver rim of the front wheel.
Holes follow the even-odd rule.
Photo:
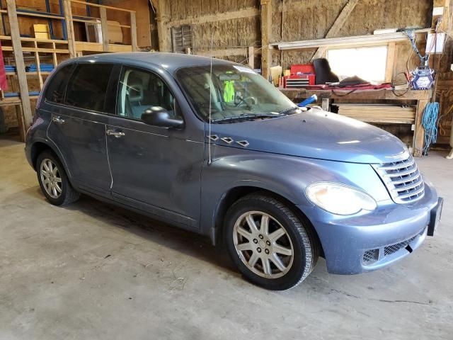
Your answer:
[[[292,259],[290,260],[291,262],[286,266],[285,271],[280,272],[280,275],[282,276],[276,278],[263,277],[263,275],[265,275],[264,273],[265,266],[263,263],[263,259],[261,258],[258,259],[258,262],[256,262],[256,264],[253,265],[253,267],[249,268],[250,265],[249,261],[251,261],[253,252],[259,249],[253,248],[254,249],[253,251],[236,250],[234,234],[237,233],[237,229],[235,229],[235,225],[236,222],[239,223],[238,225],[241,225],[241,222],[239,221],[242,220],[243,216],[246,215],[248,212],[263,212],[264,213],[263,215],[269,215],[270,217],[272,217],[273,220],[270,220],[271,222],[268,222],[269,232],[266,233],[269,237],[271,234],[270,230],[272,228],[271,226],[272,223],[276,226],[275,229],[280,229],[280,227],[283,227],[287,232],[287,234],[285,234],[284,237],[286,239],[287,244],[289,244],[289,246],[292,246],[293,255]],[[260,214],[258,213],[257,215],[253,216],[258,216],[253,218],[259,219]],[[258,223],[261,225],[261,223],[263,222],[257,222],[257,227]],[[245,222],[245,224],[243,224],[243,227],[247,228],[248,222]],[[259,231],[261,232],[261,230],[262,229],[260,227]],[[248,231],[251,232],[251,228],[248,229]],[[237,235],[241,236],[241,233],[237,233]],[[250,237],[251,234],[248,234],[248,236]],[[262,235],[259,236],[261,237]],[[238,236],[236,236],[236,240],[237,237]],[[267,238],[265,237],[264,240],[266,241],[266,239]],[[283,241],[285,241],[285,239],[283,239]],[[288,239],[290,240],[290,242]],[[318,241],[316,235],[314,235],[314,232],[311,229],[311,226],[309,225],[309,222],[307,220],[304,220],[303,217],[302,218],[297,217],[297,215],[294,214],[294,212],[291,209],[289,209],[287,205],[280,202],[280,200],[268,196],[266,193],[252,193],[248,196],[244,196],[243,198],[237,200],[236,203],[231,205],[231,208],[229,208],[228,212],[226,212],[226,217],[224,220],[224,240],[228,248],[229,255],[231,256],[231,259],[239,268],[239,271],[241,271],[243,276],[245,276],[246,279],[251,281],[251,283],[254,283],[256,285],[259,285],[260,287],[270,290],[287,290],[289,288],[295,287],[296,285],[299,285],[299,283],[301,283],[309,275],[309,273],[311,273],[314,266],[316,266],[316,262],[318,261],[319,258]],[[250,245],[248,245],[247,242],[247,247],[249,246],[256,247],[259,245],[252,244],[251,239],[248,239],[248,241],[250,242]],[[255,241],[257,241],[257,239],[253,239],[253,243],[255,243]],[[268,241],[272,242],[270,238],[268,239]],[[267,243],[268,241],[266,241],[266,244],[268,244]],[[261,237],[261,240],[258,240],[258,242],[261,242],[260,244],[263,244],[263,237]],[[243,244],[239,245],[242,246]],[[265,247],[266,254],[271,255],[273,253],[275,254],[275,250],[271,248],[270,244],[269,248],[266,245]],[[270,255],[264,255],[263,253],[260,252],[260,254],[256,254],[256,256],[270,256]],[[290,259],[290,256],[283,257],[285,259]],[[271,271],[273,272],[279,271],[277,266],[275,266],[275,264],[272,262],[273,260],[270,259],[270,261],[268,260],[265,261],[271,263],[270,267],[273,266],[273,268],[271,268]],[[287,261],[289,262],[289,260]],[[248,263],[246,264],[245,262]],[[258,275],[258,273],[256,272],[260,271],[259,268],[260,266],[262,273]]]

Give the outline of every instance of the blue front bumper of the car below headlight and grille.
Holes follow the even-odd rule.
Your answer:
[[[304,210],[318,233],[329,273],[354,274],[388,266],[423,243],[437,193],[425,182],[416,203],[390,203],[353,217],[332,215],[320,208]],[[300,207],[302,208],[302,207]]]

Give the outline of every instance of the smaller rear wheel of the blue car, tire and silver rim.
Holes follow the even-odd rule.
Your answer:
[[[50,151],[42,152],[36,162],[41,191],[53,205],[67,205],[79,199],[59,159]]]

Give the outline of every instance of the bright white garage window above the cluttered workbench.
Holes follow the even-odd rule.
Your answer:
[[[332,49],[327,51],[331,69],[340,79],[357,76],[367,81],[385,81],[387,46]]]

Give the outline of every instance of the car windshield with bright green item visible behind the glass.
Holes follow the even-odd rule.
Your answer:
[[[176,72],[197,114],[212,123],[265,119],[299,112],[297,106],[259,74],[234,64],[184,67]]]

